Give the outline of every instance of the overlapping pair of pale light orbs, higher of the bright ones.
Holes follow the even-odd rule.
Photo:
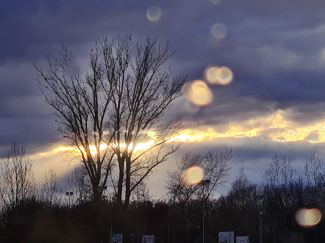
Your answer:
[[[233,73],[226,66],[212,66],[206,70],[206,78],[210,83],[227,85],[233,80]]]

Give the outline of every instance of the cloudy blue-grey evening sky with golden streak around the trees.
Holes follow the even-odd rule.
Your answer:
[[[64,154],[55,151],[62,144],[53,142],[56,117],[30,60],[58,56],[61,39],[83,65],[97,35],[127,32],[170,40],[173,72],[187,73],[190,87],[202,80],[201,94],[211,95],[197,106],[188,93],[168,111],[188,117],[193,139],[160,165],[152,191],[164,193],[167,171],[188,150],[233,148],[229,182],[217,193],[229,189],[241,164],[261,182],[275,152],[301,173],[310,149],[325,155],[324,12],[321,0],[2,0],[0,153],[23,141],[37,175],[51,165],[67,174]],[[231,82],[211,83],[207,73],[221,67]]]

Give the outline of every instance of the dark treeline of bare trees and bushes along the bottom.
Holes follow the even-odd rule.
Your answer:
[[[53,168],[36,182],[32,159],[23,144],[14,142],[0,165],[1,240],[109,242],[112,232],[122,233],[123,242],[141,242],[142,234],[171,243],[201,242],[204,203],[206,242],[218,242],[219,231],[229,230],[259,242],[259,211],[263,211],[263,242],[274,242],[274,236],[276,242],[321,242],[323,219],[308,228],[294,220],[298,208],[325,209],[325,169],[317,149],[308,154],[302,174],[288,156],[274,153],[260,184],[251,183],[241,166],[228,193],[216,198],[216,189],[226,182],[231,157],[227,148],[188,152],[169,172],[164,198],[156,199],[142,181],[125,209],[114,193],[103,192],[100,204],[93,203],[82,167],[73,169],[63,188]],[[204,169],[209,184],[188,183],[185,176],[194,166]],[[73,195],[66,196],[70,191]]]

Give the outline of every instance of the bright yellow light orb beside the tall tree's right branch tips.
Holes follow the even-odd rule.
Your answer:
[[[212,91],[202,80],[195,80],[192,83],[190,98],[197,105],[207,105],[212,101]]]

